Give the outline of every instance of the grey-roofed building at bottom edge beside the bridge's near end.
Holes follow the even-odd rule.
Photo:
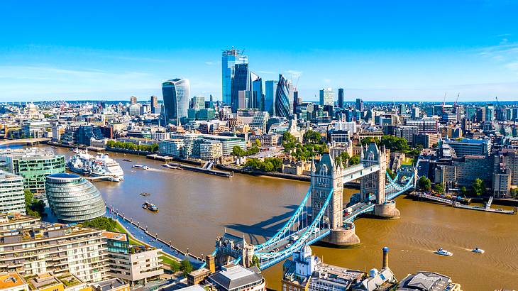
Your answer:
[[[266,281],[257,267],[224,265],[207,278],[218,291],[266,291]]]

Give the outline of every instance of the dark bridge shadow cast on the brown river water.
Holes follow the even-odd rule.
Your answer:
[[[286,205],[285,208],[290,209],[288,212],[272,216],[271,218],[260,221],[256,224],[227,224],[224,225],[224,227],[226,229],[232,229],[245,234],[245,238],[248,243],[257,245],[259,243],[263,243],[277,233],[277,231],[282,229],[282,226],[284,226],[286,221],[290,219],[297,207],[299,207],[299,205]],[[311,212],[311,209],[309,209],[309,212]],[[241,236],[241,234],[236,235]]]

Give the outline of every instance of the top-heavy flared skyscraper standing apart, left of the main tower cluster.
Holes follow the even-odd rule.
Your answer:
[[[170,79],[162,83],[165,121],[180,125],[189,109],[189,79]]]

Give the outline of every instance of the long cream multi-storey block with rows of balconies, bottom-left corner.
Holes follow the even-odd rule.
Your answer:
[[[14,216],[0,220],[0,227],[26,220]],[[84,282],[107,277],[103,230],[70,224],[49,224],[39,219],[30,228],[0,234],[0,272],[26,277],[40,273],[76,275]]]

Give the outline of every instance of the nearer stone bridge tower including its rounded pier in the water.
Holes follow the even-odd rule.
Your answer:
[[[313,170],[314,169],[314,170]],[[343,226],[343,167],[341,161],[335,163],[329,153],[322,155],[316,167],[312,165],[312,216],[319,214],[329,192],[332,192],[329,209],[324,213],[324,221],[329,224],[331,234],[322,239],[336,246],[352,246],[360,243],[353,224]]]

